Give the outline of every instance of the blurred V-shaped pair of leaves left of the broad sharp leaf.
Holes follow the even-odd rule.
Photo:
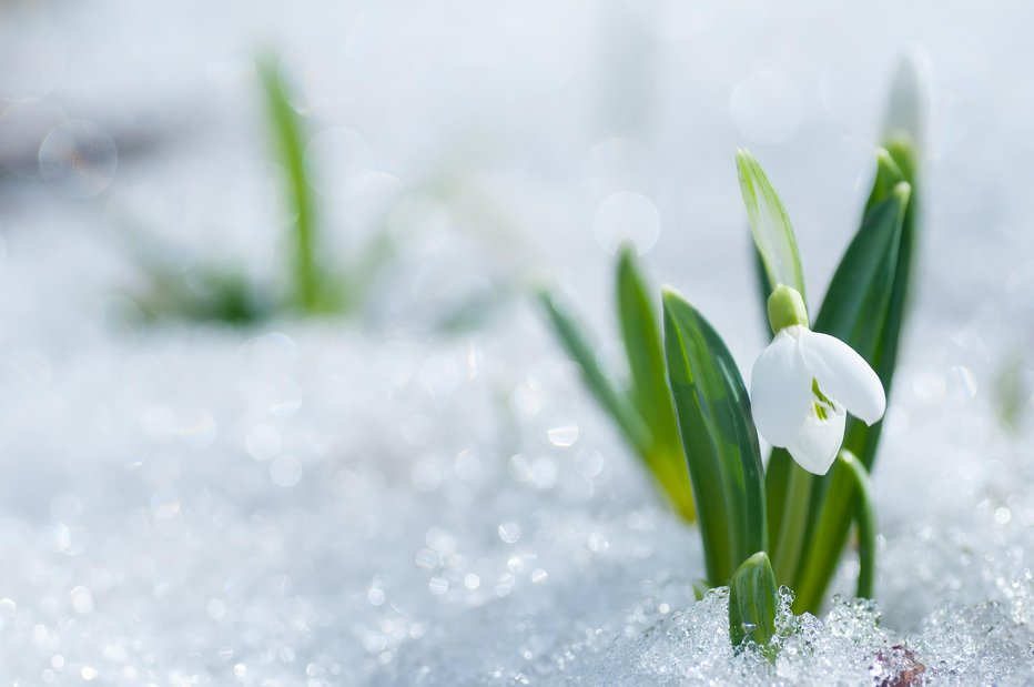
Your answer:
[[[598,346],[565,304],[549,292],[543,292],[540,300],[560,344],[581,368],[589,392],[642,459],[672,508],[692,522],[693,493],[668,388],[660,326],[631,245],[619,251],[616,282],[618,320],[631,373],[629,388],[620,388],[600,368]]]

